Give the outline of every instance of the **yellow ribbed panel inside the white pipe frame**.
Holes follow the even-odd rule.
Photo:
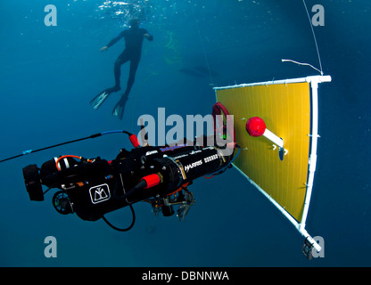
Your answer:
[[[222,89],[217,99],[235,116],[236,142],[248,149],[241,151],[235,166],[300,222],[308,175],[309,83]],[[284,140],[288,153],[283,160],[278,148],[273,151],[273,142],[246,132],[251,117],[262,118],[268,130]]]

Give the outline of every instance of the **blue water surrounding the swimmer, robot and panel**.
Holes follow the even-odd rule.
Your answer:
[[[144,1],[127,1],[141,4]],[[317,173],[308,231],[325,239],[325,257],[308,261],[301,236],[235,169],[190,188],[196,204],[185,223],[154,217],[138,203],[136,225],[114,232],[103,221],[61,216],[45,202],[30,202],[21,169],[54,156],[113,159],[130,148],[125,136],[77,142],[0,164],[0,265],[2,266],[369,266],[371,77],[369,1],[307,0],[326,11],[316,27],[325,74],[320,86]],[[57,8],[57,26],[45,27],[46,4]],[[0,159],[24,150],[111,129],[137,132],[142,114],[209,114],[214,85],[234,85],[315,75],[319,66],[301,1],[149,0],[136,83],[124,118],[111,116],[119,94],[95,111],[88,102],[113,85],[113,62],[123,42],[99,49],[125,28],[130,13],[98,0],[2,1],[0,9]],[[313,15],[310,12],[310,15]],[[209,69],[207,68],[209,64]],[[199,68],[201,67],[201,68]],[[198,76],[189,70],[203,70]],[[206,71],[205,71],[206,70]],[[187,72],[185,72],[187,71]],[[210,76],[211,74],[211,76]],[[121,80],[126,83],[128,66]],[[124,84],[123,84],[124,85]],[[126,226],[128,208],[110,214]],[[45,258],[44,239],[57,240],[57,257]]]

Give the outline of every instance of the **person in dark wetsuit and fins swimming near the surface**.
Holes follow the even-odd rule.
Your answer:
[[[112,111],[112,115],[117,116],[120,119],[122,119],[125,104],[128,101],[128,94],[130,93],[131,87],[134,84],[136,69],[138,68],[142,54],[144,37],[149,41],[153,41],[153,36],[151,36],[145,28],[139,28],[139,20],[134,19],[130,21],[130,28],[123,30],[118,37],[113,38],[108,45],[103,46],[101,48],[101,52],[108,50],[111,45],[116,44],[122,37],[125,38],[125,50],[119,55],[114,64],[115,85],[111,88],[103,90],[90,102],[93,108],[97,110],[110,94],[121,90],[121,65],[127,61],[130,61],[127,89],[125,90],[125,93],[122,94],[120,101],[116,104]]]

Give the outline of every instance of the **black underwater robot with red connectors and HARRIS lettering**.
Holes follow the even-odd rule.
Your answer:
[[[42,167],[24,167],[29,198],[42,201],[45,192],[59,189],[53,205],[62,215],[76,213],[87,221],[103,218],[113,229],[125,232],[135,224],[132,204],[139,201],[150,203],[153,212],[163,216],[173,216],[174,206],[178,206],[177,216],[184,220],[194,205],[194,195],[187,187],[204,175],[221,174],[231,167],[234,157],[233,149],[216,143],[207,147],[189,141],[165,147],[134,145],[131,151],[120,150],[112,160],[63,156],[46,161]],[[104,215],[124,207],[131,209],[133,219],[128,228],[120,229]]]

